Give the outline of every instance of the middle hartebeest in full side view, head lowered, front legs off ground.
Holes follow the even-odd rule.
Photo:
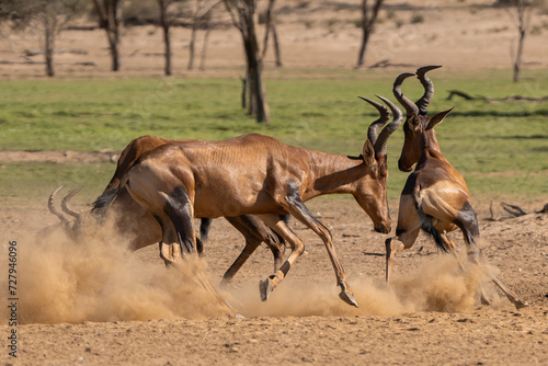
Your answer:
[[[376,231],[390,231],[386,144],[402,116],[392,103],[385,102],[396,111],[395,118],[378,135],[379,125],[388,122],[387,114],[372,125],[359,157],[292,147],[255,134],[215,142],[167,144],[142,155],[119,188],[126,187],[160,222],[161,253],[169,252],[173,258],[195,252],[194,217],[258,215],[292,247],[275,274],[261,281],[262,300],[284,279],[305,249],[279,217],[289,214],[322,239],[341,287],[341,299],[357,306],[330,231],[305,202],[323,194],[352,194]]]

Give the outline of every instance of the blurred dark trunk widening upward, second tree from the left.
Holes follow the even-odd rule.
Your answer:
[[[119,28],[123,23],[121,0],[93,0],[101,27],[106,31],[112,58],[112,71],[119,70]]]

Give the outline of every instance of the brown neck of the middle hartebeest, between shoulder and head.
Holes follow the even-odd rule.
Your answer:
[[[363,178],[367,169],[362,157],[308,151],[308,169],[305,201],[332,193],[353,193],[354,182]]]

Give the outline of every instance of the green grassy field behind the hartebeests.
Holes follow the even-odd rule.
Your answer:
[[[391,95],[397,71],[282,70],[266,73],[270,124],[240,107],[238,79],[4,80],[0,88],[0,150],[122,150],[133,138],[225,139],[261,133],[287,144],[358,155],[376,110],[356,96]],[[449,90],[501,99],[548,95],[548,70],[431,73],[436,94],[430,113],[455,106],[436,127],[442,151],[467,179],[472,195],[548,198],[548,101],[446,100]],[[416,100],[422,87],[403,87]],[[389,196],[399,196],[407,173],[397,170],[402,130],[389,140]],[[114,165],[0,163],[0,190],[10,197],[43,199],[58,184],[102,191]]]

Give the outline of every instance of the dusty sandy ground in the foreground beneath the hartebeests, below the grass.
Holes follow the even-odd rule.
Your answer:
[[[186,270],[167,270],[157,245],[132,254],[121,241],[75,245],[56,233],[34,238],[35,228],[56,222],[44,207],[35,208],[10,208],[0,220],[2,252],[7,241],[18,241],[18,363],[24,365],[548,362],[547,214],[507,218],[498,210],[495,221],[479,214],[489,263],[529,304],[516,310],[477,271],[463,274],[424,237],[397,259],[387,287],[379,255],[385,236],[373,231],[352,199],[312,201],[310,208],[333,233],[359,308],[338,298],[323,244],[294,222],[307,254],[266,302],[258,290],[259,279],[272,271],[265,247],[220,289],[246,317],[240,319],[193,285]],[[453,238],[461,244],[460,235]],[[216,286],[242,245],[224,219],[214,221],[204,260]],[[479,304],[478,283],[491,306]],[[13,327],[3,311],[5,344]],[[14,363],[5,348],[1,356],[2,363]]]

